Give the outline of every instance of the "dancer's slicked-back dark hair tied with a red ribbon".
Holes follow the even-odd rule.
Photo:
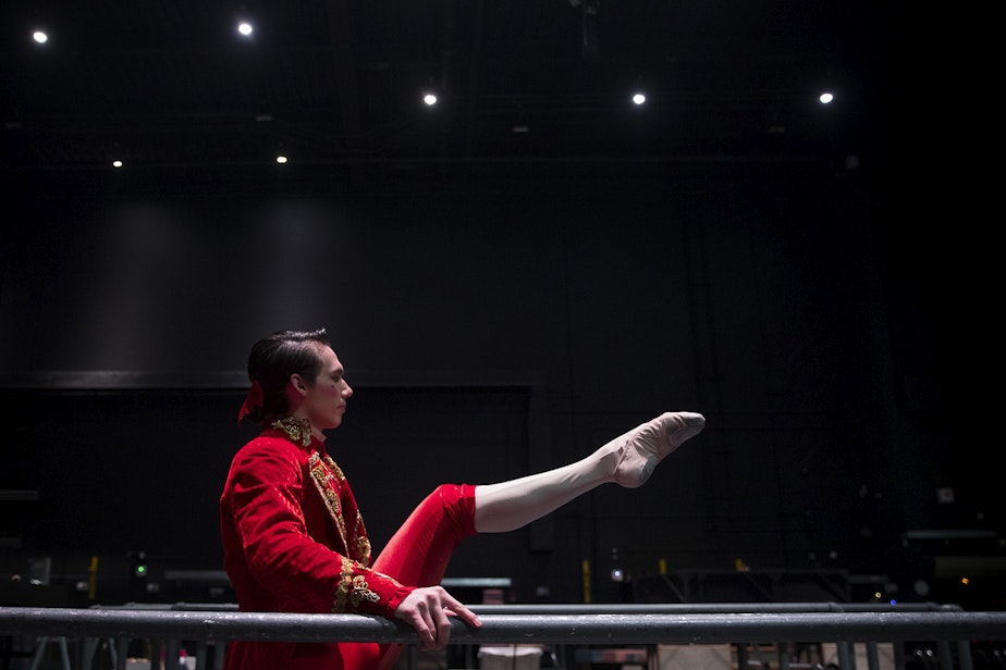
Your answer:
[[[262,387],[262,407],[248,415],[253,421],[285,414],[290,407],[286,382],[299,374],[314,383],[321,372],[319,347],[329,345],[324,328],[317,331],[279,331],[259,339],[248,355],[248,379]]]

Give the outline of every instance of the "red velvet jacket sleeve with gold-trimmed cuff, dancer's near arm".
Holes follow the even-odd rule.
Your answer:
[[[286,441],[249,443],[235,457],[226,505],[256,581],[283,611],[358,612],[389,619],[414,591],[311,536],[315,504],[303,454]]]

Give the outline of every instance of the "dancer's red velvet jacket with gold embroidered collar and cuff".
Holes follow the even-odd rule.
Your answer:
[[[305,447],[282,430],[266,429],[242,447],[220,497],[220,533],[242,611],[392,618],[414,590],[370,570],[370,542],[353,491],[317,438]],[[283,667],[297,646],[332,645],[235,642],[228,666]]]

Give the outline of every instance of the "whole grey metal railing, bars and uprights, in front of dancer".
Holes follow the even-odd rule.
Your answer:
[[[933,641],[936,650],[918,659],[922,667],[972,670],[974,642],[1006,642],[1006,611],[962,611],[955,606],[809,604],[726,605],[481,605],[473,606],[480,629],[454,621],[452,645],[543,644],[587,645],[735,645],[738,667],[746,668],[746,649],[765,643],[778,649],[777,665],[790,667],[786,650],[797,643],[835,643],[838,668],[855,670],[852,645],[867,644],[867,663],[875,670],[876,643]],[[415,667],[416,636],[398,621],[363,615],[240,612],[233,606],[179,603],[120,607],[0,607],[0,635],[58,638],[64,667],[65,641],[83,641],[82,666],[100,641],[115,641],[118,670],[125,668],[125,644],[133,640],[163,645],[164,670],[179,670],[182,641],[198,643],[197,666],[206,667],[207,644],[219,670],[225,643],[234,640],[272,642],[382,642],[409,645]],[[118,653],[115,653],[118,652]],[[151,656],[155,662],[157,655]],[[906,658],[898,655],[898,668]],[[568,665],[568,662],[567,662]],[[155,665],[156,667],[156,665]]]

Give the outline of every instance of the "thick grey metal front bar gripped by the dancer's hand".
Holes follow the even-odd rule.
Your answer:
[[[724,644],[1006,640],[1006,611],[713,615],[484,615],[453,644]],[[401,621],[363,615],[0,608],[0,634],[147,640],[416,643]]]

